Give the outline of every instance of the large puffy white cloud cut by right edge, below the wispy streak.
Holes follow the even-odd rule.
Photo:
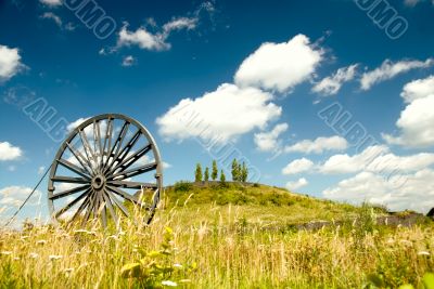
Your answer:
[[[401,93],[406,108],[396,122],[397,136],[383,133],[383,139],[393,145],[405,147],[429,147],[434,144],[434,77],[412,81]]]

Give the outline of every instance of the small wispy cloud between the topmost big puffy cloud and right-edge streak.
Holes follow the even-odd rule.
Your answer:
[[[320,82],[315,84],[312,88],[312,92],[322,94],[322,95],[334,95],[336,94],[341,88],[342,84],[345,82],[348,82],[354,79],[356,76],[356,70],[357,70],[358,64],[354,64],[347,67],[342,67],[337,69],[335,74],[332,76],[326,77],[322,79]]]

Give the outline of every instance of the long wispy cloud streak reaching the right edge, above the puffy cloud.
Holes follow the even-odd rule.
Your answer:
[[[374,84],[392,79],[400,74],[407,73],[411,69],[427,68],[433,64],[434,61],[432,58],[427,58],[424,62],[400,61],[395,63],[391,60],[385,60],[380,67],[362,75],[360,79],[360,88],[362,90],[369,90]]]

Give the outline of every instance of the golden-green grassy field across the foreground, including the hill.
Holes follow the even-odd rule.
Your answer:
[[[0,288],[432,288],[433,222],[376,224],[384,214],[263,185],[179,183],[149,227],[1,232]],[[332,225],[296,228],[319,220]]]

